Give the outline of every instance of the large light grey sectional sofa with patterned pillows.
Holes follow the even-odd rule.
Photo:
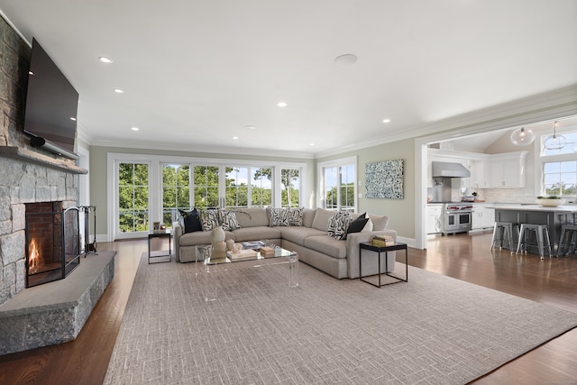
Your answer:
[[[234,211],[234,210],[233,210]],[[367,215],[371,218],[372,230],[365,227],[360,233],[347,234],[345,240],[328,235],[329,219],[333,210],[323,208],[308,209],[302,212],[302,225],[270,226],[270,209],[245,208],[234,211],[240,228],[226,231],[226,239],[236,243],[267,240],[284,249],[298,252],[299,261],[303,261],[318,270],[325,271],[335,278],[359,278],[359,243],[369,242],[374,235],[390,235],[395,240],[397,232],[388,230],[388,216]],[[359,214],[353,214],[353,218]],[[184,233],[178,221],[173,223],[173,253],[180,262],[196,261],[197,245],[210,244],[210,231]],[[362,275],[375,274],[378,271],[376,254],[369,257],[363,251]],[[395,252],[389,252],[388,261],[381,253],[381,272],[392,270]]]

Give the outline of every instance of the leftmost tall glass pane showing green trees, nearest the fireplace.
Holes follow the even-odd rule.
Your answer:
[[[118,165],[118,230],[121,233],[148,231],[148,164]]]

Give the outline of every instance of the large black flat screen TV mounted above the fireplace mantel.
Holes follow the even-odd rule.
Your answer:
[[[24,112],[24,133],[32,135],[32,146],[78,159],[77,112],[78,92],[33,39]]]

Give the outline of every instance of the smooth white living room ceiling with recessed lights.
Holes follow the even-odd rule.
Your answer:
[[[575,0],[0,0],[0,10],[77,88],[93,144],[315,156],[577,84]],[[345,53],[358,60],[335,64]]]

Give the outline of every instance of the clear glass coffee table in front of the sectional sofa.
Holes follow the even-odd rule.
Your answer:
[[[213,301],[217,297],[217,289],[215,280],[212,276],[215,273],[224,272],[226,265],[229,263],[245,263],[254,268],[261,268],[266,266],[288,264],[289,265],[289,288],[298,287],[298,253],[290,252],[280,246],[272,247],[273,252],[265,254],[259,249],[254,250],[254,254],[246,255],[243,258],[234,258],[227,252],[226,255],[215,256],[211,245],[196,246],[197,261],[202,263],[202,276],[204,278],[203,286],[205,288],[205,301]]]

